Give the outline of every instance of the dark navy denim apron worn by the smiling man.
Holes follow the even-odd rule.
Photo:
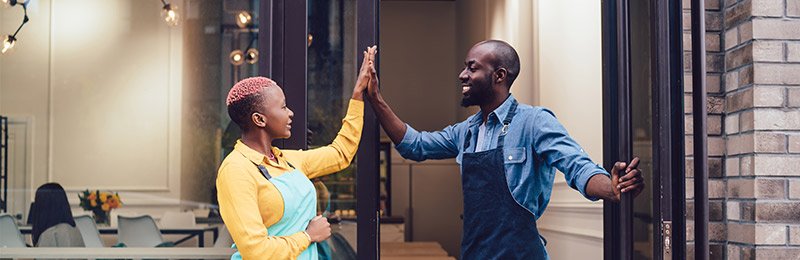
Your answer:
[[[536,216],[514,200],[506,181],[503,141],[516,109],[514,101],[503,121],[497,148],[466,153],[470,137],[465,139],[462,259],[547,259]]]

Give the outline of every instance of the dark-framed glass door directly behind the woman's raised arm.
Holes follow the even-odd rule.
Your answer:
[[[313,149],[336,137],[361,50],[378,42],[378,7],[378,0],[261,0],[259,49],[269,52],[259,74],[284,87],[295,113],[292,137],[277,146]],[[357,259],[378,258],[379,132],[369,107],[353,164],[312,180],[318,213],[333,224],[332,239],[346,242]]]

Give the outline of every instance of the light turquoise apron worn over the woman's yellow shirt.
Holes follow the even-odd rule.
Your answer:
[[[317,215],[317,191],[314,189],[314,184],[291,163],[286,163],[294,170],[274,178],[269,175],[266,167],[256,165],[261,174],[275,185],[283,197],[283,217],[277,223],[267,227],[268,236],[288,236],[305,231],[308,222]],[[233,248],[236,248],[235,244]],[[242,259],[239,252],[231,256],[231,260],[239,259]],[[319,259],[316,243],[303,250],[297,259]]]

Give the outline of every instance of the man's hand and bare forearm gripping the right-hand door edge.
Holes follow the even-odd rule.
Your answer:
[[[618,202],[620,194],[625,192],[633,192],[634,197],[638,196],[644,190],[644,178],[638,167],[638,157],[633,158],[629,165],[624,162],[615,163],[611,169],[611,178],[597,174],[589,179],[586,183],[586,195],[613,202]],[[623,170],[625,175],[620,177]]]

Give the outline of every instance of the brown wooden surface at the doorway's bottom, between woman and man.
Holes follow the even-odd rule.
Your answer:
[[[437,242],[382,242],[382,260],[455,260]]]

